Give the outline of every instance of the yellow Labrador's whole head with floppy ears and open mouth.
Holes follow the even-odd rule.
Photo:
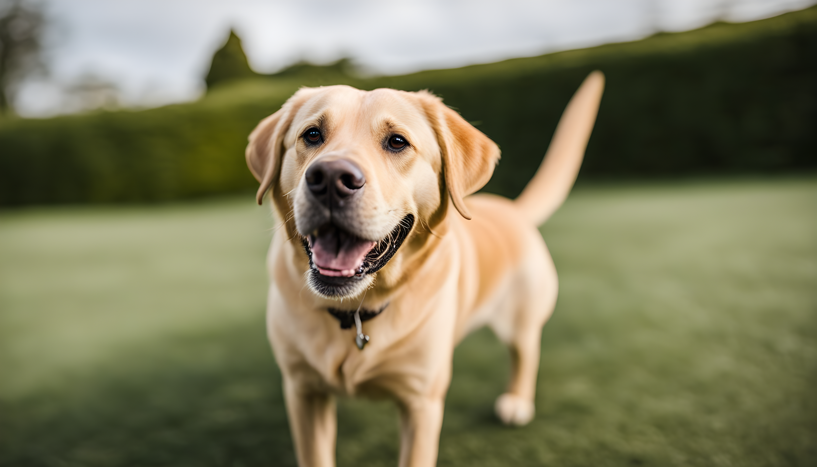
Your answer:
[[[272,188],[288,234],[309,258],[310,289],[359,295],[407,238],[427,235],[449,199],[488,182],[499,149],[429,92],[302,88],[258,124],[247,163]],[[422,228],[418,226],[423,226]]]

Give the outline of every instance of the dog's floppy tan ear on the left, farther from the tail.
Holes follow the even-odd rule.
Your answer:
[[[278,179],[283,157],[283,137],[286,136],[297,110],[317,89],[301,88],[286,101],[281,109],[261,120],[249,136],[245,155],[252,176],[261,183],[256,193],[258,204],[264,200],[266,191]]]

